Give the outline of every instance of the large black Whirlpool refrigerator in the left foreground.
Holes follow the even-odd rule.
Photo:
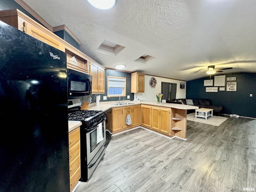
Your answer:
[[[0,192],[69,192],[66,53],[0,22]]]

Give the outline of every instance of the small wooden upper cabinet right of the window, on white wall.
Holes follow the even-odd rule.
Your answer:
[[[131,80],[131,92],[132,93],[144,93],[145,91],[145,74],[132,73]]]

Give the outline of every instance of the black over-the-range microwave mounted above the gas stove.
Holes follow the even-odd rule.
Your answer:
[[[92,76],[68,69],[68,96],[92,94]]]

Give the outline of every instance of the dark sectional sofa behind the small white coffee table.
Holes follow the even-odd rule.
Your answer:
[[[194,105],[199,108],[213,109],[214,115],[222,114],[222,106],[214,106],[210,99],[173,99],[170,103],[178,103],[185,105]],[[195,110],[188,110],[188,113],[195,112]]]

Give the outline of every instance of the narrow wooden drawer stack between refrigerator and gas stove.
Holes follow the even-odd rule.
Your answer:
[[[80,127],[68,134],[69,141],[69,178],[70,192],[74,190],[80,179]]]

